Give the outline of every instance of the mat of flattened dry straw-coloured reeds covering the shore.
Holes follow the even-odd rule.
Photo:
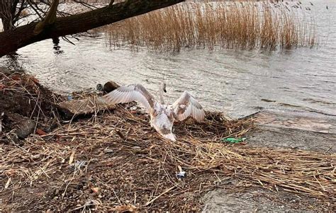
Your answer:
[[[43,137],[35,135],[20,148],[6,146],[0,182],[10,183],[6,189],[0,185],[1,193],[10,195],[29,185],[47,184],[50,190],[45,197],[59,198],[26,198],[39,204],[33,210],[43,209],[46,203],[52,208],[75,208],[78,185],[91,177],[88,184],[100,188],[104,196],[108,194],[92,200],[101,211],[131,203],[142,210],[164,206],[199,210],[198,197],[203,192],[225,184],[222,180],[237,180],[235,188],[285,190],[335,204],[335,154],[223,144],[219,142],[223,137],[249,132],[253,119],[228,121],[220,113],[207,113],[200,124],[193,120],[177,123],[178,142],[167,142],[150,128],[147,115],[140,110],[130,113],[128,108],[133,105],[63,125]],[[77,168],[75,163],[81,161],[84,168]],[[179,166],[188,173],[182,181],[175,177]],[[186,200],[190,194],[195,197]]]

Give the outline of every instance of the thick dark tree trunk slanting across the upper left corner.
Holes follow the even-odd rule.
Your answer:
[[[172,6],[183,0],[128,0],[108,5],[86,13],[56,18],[51,25],[46,25],[38,34],[34,32],[38,23],[30,23],[14,30],[0,33],[0,57],[14,52],[34,42],[48,38],[83,33],[93,28],[139,16],[159,8]]]

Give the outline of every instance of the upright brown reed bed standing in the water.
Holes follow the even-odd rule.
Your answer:
[[[152,50],[290,49],[318,45],[310,8],[301,2],[184,2],[105,28],[111,47]]]

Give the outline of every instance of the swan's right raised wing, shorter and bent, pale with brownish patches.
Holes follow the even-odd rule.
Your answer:
[[[200,122],[206,116],[201,104],[187,91],[173,103],[173,108],[177,120],[184,120],[191,115]]]

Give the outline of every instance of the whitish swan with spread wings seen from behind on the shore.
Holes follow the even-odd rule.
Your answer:
[[[187,91],[184,91],[172,105],[164,103],[163,92],[167,92],[164,83],[160,86],[160,101],[158,102],[141,84],[130,84],[121,86],[102,98],[108,104],[128,103],[134,100],[140,102],[150,114],[150,125],[164,138],[176,141],[175,135],[172,133],[175,120],[185,120],[191,115],[195,120],[201,122],[205,113],[201,104]]]

